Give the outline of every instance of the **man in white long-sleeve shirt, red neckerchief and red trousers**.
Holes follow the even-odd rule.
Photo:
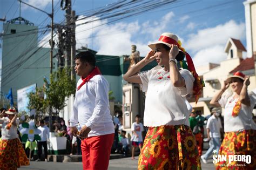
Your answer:
[[[78,53],[75,59],[75,71],[82,78],[77,83],[70,130],[82,139],[83,168],[107,169],[114,139],[109,84],[95,66],[96,59],[90,51]],[[80,132],[76,128],[78,122]]]

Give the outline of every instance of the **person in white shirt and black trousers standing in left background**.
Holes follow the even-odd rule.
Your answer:
[[[38,127],[38,130],[41,131],[39,134],[41,137],[41,141],[38,141],[37,147],[38,147],[38,159],[36,161],[39,161],[41,158],[42,154],[42,146],[44,147],[44,161],[47,160],[47,155],[48,155],[48,148],[47,148],[47,140],[49,139],[50,136],[50,131],[49,128],[44,124],[44,120],[40,120],[40,126]]]

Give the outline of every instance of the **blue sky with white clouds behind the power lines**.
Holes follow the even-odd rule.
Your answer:
[[[50,0],[23,0],[51,13]],[[120,1],[120,0],[119,0]],[[164,1],[164,0],[162,0]],[[82,18],[85,11],[111,5],[116,1],[72,0],[72,10]],[[181,40],[196,66],[208,62],[219,64],[226,59],[224,47],[228,38],[241,40],[246,47],[244,0],[178,0],[174,3],[145,11],[140,15],[109,23],[109,19],[92,16],[76,24],[98,19],[76,28],[77,48],[87,46],[101,55],[130,55],[131,45],[137,45],[140,56],[150,50],[147,44],[157,41],[161,33],[172,32]],[[65,12],[59,9],[59,0],[54,0],[54,23],[63,22]],[[0,0],[0,18],[10,20],[19,16],[17,0]],[[41,28],[50,25],[51,19],[43,12],[21,5],[21,16]],[[103,25],[104,24],[104,25]],[[102,25],[102,26],[100,26]],[[0,22],[3,31],[3,22]],[[39,36],[39,46],[49,40],[49,32]],[[48,46],[48,43],[46,43]],[[246,53],[244,53],[246,57]],[[0,48],[0,58],[2,49]],[[2,59],[1,59],[2,60]]]

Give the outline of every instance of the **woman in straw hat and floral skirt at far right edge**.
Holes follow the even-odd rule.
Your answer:
[[[221,90],[210,101],[210,104],[225,109],[225,137],[219,155],[226,155],[227,160],[220,161],[217,169],[256,169],[256,124],[252,119],[255,100],[247,92],[249,78],[242,72],[235,72],[224,81]],[[223,94],[229,86],[233,94]],[[247,164],[244,161],[229,161],[228,158],[234,158],[234,155],[251,155],[251,162]]]

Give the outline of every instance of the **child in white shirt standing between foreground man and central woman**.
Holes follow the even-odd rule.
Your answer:
[[[140,115],[136,115],[135,122],[132,124],[132,160],[134,160],[134,151],[136,147],[139,147],[139,151],[142,151],[142,132],[144,131],[143,124],[139,122]]]

